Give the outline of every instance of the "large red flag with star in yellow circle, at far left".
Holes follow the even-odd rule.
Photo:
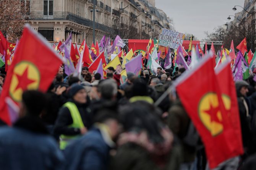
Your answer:
[[[29,27],[26,26],[23,30],[0,96],[0,119],[8,125],[11,125],[11,113],[8,111],[6,99],[11,99],[19,105],[24,91],[47,91],[62,64],[62,59],[55,54],[44,38]]]

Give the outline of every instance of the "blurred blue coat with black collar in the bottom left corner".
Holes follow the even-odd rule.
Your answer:
[[[24,117],[0,128],[1,170],[58,170],[64,156],[39,118]]]

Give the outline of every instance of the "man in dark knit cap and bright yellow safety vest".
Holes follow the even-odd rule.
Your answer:
[[[73,84],[69,90],[71,99],[59,111],[54,132],[60,135],[60,149],[87,132],[90,112],[87,109],[87,94],[83,86]]]

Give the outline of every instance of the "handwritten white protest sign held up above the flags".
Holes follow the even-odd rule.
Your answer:
[[[162,29],[158,45],[177,49],[179,44],[183,43],[184,38],[185,34],[183,33]]]

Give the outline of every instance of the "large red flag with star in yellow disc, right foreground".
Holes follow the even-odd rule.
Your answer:
[[[228,121],[214,72],[214,57],[176,80],[176,91],[206,148],[210,168],[234,156],[237,136]],[[190,88],[188,88],[188,86]],[[193,90],[191,90],[193,89]]]

